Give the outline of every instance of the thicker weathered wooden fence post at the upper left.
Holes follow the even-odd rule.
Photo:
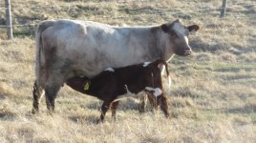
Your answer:
[[[11,24],[11,0],[6,0],[6,19],[7,19],[7,35],[12,39],[12,24]]]

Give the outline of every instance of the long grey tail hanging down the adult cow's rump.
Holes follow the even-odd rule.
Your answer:
[[[46,57],[43,51],[42,32],[53,26],[54,21],[47,20],[39,24],[37,31],[35,32],[35,46],[36,46],[36,57],[35,57],[35,76],[38,85],[43,86],[46,77],[43,77],[43,71],[46,71]]]

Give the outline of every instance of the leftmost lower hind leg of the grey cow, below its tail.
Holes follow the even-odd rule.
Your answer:
[[[42,96],[44,95],[44,89],[37,84],[37,81],[34,81],[33,84],[33,102],[32,102],[32,113],[38,113],[39,112],[39,104]]]

